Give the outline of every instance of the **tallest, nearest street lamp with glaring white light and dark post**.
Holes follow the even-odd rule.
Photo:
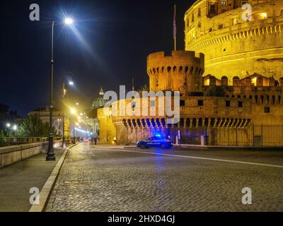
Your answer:
[[[65,18],[65,24],[71,25],[74,20],[71,18]],[[53,112],[53,79],[54,79],[54,23],[52,21],[52,35],[51,35],[51,78],[50,78],[50,129],[49,129],[49,139],[48,139],[48,150],[47,150],[47,161],[56,160],[54,149],[53,149],[53,121],[52,121],[52,112]]]

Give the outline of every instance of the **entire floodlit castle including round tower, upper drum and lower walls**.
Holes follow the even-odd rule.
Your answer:
[[[253,13],[242,21],[246,3]],[[185,51],[147,58],[149,90],[180,92],[180,121],[99,109],[98,119],[112,128],[111,138],[101,139],[135,143],[158,132],[182,143],[282,146],[282,9],[281,0],[196,1],[185,13]],[[157,112],[158,102],[148,101],[146,110]]]

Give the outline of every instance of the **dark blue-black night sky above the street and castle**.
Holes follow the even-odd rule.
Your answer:
[[[173,6],[177,5],[178,49],[184,49],[183,16],[194,1],[70,0],[1,1],[0,103],[21,115],[49,102],[51,23],[54,30],[54,99],[68,72],[76,90],[69,90],[89,108],[102,86],[136,88],[148,82],[146,56],[173,49]],[[40,21],[30,21],[30,4],[39,4]],[[64,26],[75,20],[79,38]]]

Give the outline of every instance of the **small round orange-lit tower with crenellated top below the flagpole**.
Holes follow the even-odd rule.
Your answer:
[[[204,54],[173,51],[170,56],[156,52],[147,57],[147,73],[151,91],[180,91],[181,95],[201,93]]]

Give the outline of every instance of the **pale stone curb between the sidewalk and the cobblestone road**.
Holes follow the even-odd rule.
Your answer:
[[[67,148],[63,155],[60,157],[59,161],[57,162],[57,165],[54,167],[54,169],[52,170],[52,173],[50,174],[50,177],[47,179],[47,181],[45,182],[45,185],[42,187],[41,191],[40,191],[40,204],[39,205],[33,205],[31,206],[30,210],[28,210],[28,212],[43,212],[43,210],[45,210],[45,206],[47,204],[47,201],[50,198],[50,194],[52,192],[52,189],[54,187],[54,184],[57,181],[57,177],[59,174],[59,171],[64,163],[64,160],[67,156],[67,153],[69,152],[69,150],[71,148],[74,148],[74,146],[78,145],[79,143],[76,143],[74,145],[71,145],[71,147]]]

